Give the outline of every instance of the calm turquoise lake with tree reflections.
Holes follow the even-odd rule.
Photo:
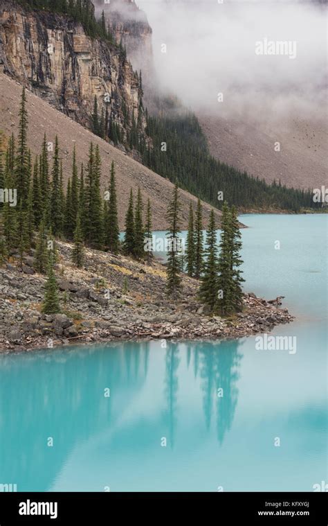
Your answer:
[[[285,296],[296,319],[273,334],[295,336],[296,353],[257,351],[250,337],[0,356],[0,484],[313,491],[328,481],[328,216],[240,219],[245,289]]]

